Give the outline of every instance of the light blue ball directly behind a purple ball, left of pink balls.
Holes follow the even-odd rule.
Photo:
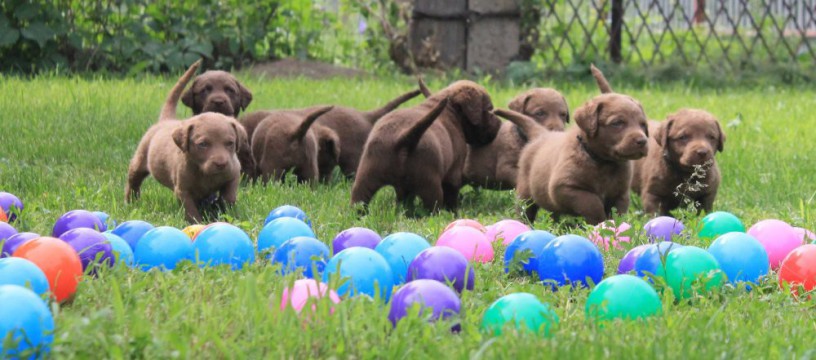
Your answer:
[[[408,266],[427,248],[431,247],[424,237],[409,232],[398,232],[388,235],[377,244],[374,251],[380,253],[394,273],[394,285],[405,282]]]

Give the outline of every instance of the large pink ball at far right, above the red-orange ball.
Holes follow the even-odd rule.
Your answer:
[[[768,252],[768,260],[771,269],[778,269],[785,256],[802,245],[803,237],[788,223],[768,219],[762,220],[748,229],[748,235],[759,240],[765,251]]]

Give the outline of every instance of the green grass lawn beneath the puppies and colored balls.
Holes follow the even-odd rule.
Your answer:
[[[406,79],[261,80],[242,77],[254,93],[250,110],[316,103],[376,107],[413,86]],[[123,221],[185,226],[173,194],[154,180],[141,200],[123,202],[127,163],[143,132],[157,118],[175,79],[84,80],[41,77],[0,81],[0,190],[23,199],[19,230],[50,234],[54,221],[72,209],[102,210]],[[443,84],[431,81],[433,88]],[[560,89],[574,110],[596,94],[584,83],[539,84]],[[727,132],[718,155],[723,183],[715,208],[740,216],[746,225],[779,218],[813,228],[816,220],[811,171],[814,91],[794,88],[695,90],[670,87],[616,89],[638,98],[650,118],[661,119],[681,107],[705,108]],[[488,85],[497,106],[521,88]],[[412,102],[416,103],[418,100]],[[181,112],[189,115],[189,111]],[[236,208],[225,217],[251,236],[269,210],[282,204],[302,207],[318,237],[329,243],[352,226],[382,235],[412,231],[435,241],[457,215],[443,212],[406,217],[394,193],[381,191],[370,215],[358,218],[350,207],[351,184],[335,181],[314,188],[293,183],[244,186]],[[459,217],[490,224],[514,218],[512,192],[465,189]],[[623,219],[636,229],[648,220],[638,202]],[[684,215],[693,228],[699,220]],[[556,234],[585,228],[552,225],[539,217],[537,228]],[[643,243],[641,235],[633,244]],[[690,245],[708,244],[691,239]],[[502,251],[497,254],[501,258]],[[625,250],[604,254],[613,274]],[[306,322],[279,311],[282,289],[295,280],[281,277],[261,261],[249,269],[198,269],[171,273],[117,268],[86,278],[70,304],[53,306],[56,358],[799,358],[812,357],[816,326],[813,301],[796,302],[778,290],[775,279],[746,293],[725,289],[710,297],[675,303],[662,295],[663,316],[648,321],[597,326],[585,319],[588,290],[550,292],[533,279],[506,275],[499,261],[476,265],[476,289],[462,295],[462,332],[449,323],[426,324],[411,317],[396,329],[388,305],[349,299],[328,316]],[[494,300],[530,292],[554,307],[561,321],[550,338],[508,333],[491,338],[479,332],[481,316]],[[2,304],[0,304],[2,306]]]

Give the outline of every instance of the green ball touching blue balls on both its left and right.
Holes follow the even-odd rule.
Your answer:
[[[722,287],[725,276],[714,255],[696,246],[685,246],[666,256],[666,282],[678,299],[688,299],[695,291],[710,292]],[[703,289],[695,289],[702,282]]]

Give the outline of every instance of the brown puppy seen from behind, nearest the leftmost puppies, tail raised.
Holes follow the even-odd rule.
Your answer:
[[[317,180],[319,144],[312,127],[331,109],[318,108],[306,117],[273,112],[258,124],[252,135],[252,155],[263,182],[282,180],[287,171],[292,171],[300,182]]]

